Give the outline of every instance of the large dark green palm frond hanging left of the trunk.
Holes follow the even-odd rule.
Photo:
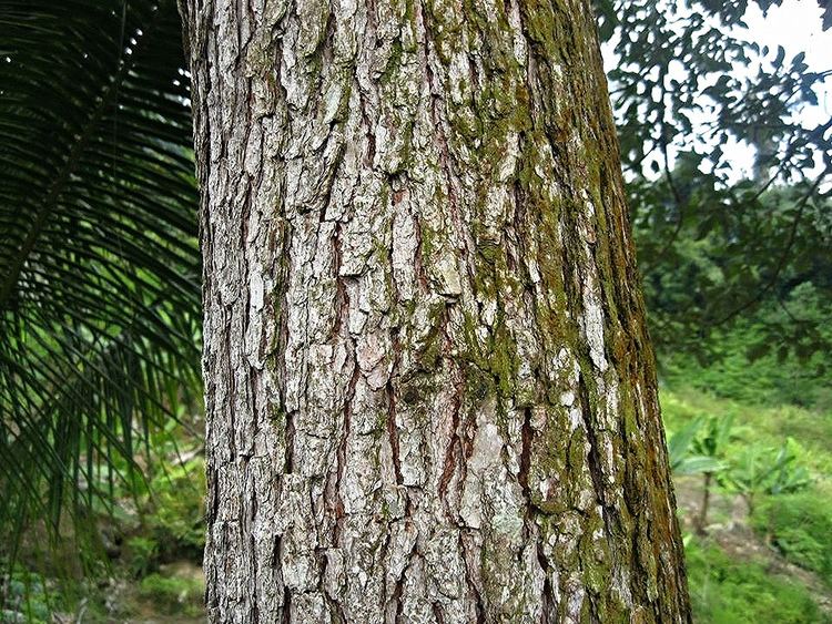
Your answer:
[[[182,67],[172,0],[0,0],[3,538],[112,504],[199,396]]]

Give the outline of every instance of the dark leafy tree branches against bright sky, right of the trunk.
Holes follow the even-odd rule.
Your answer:
[[[754,43],[749,4],[596,2],[651,335],[702,357],[711,331],[760,320],[801,285],[832,301],[832,121],[800,114],[832,72]],[[731,143],[755,150],[750,177],[737,180]],[[761,345],[799,357],[829,350],[822,328],[758,327]]]

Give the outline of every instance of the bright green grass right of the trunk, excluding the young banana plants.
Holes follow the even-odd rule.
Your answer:
[[[769,493],[759,500],[753,514],[745,519],[753,532],[735,532],[748,534],[747,539],[754,542],[755,548],[747,553],[726,550],[719,540],[687,536],[694,621],[700,624],[832,622],[829,610],[819,606],[821,594],[826,600],[830,595],[823,586],[832,589],[832,413],[795,406],[750,405],[716,397],[692,386],[662,387],[660,395],[670,431],[678,431],[697,418],[733,417],[733,434],[726,448],[729,464],[732,461],[735,464],[752,446],[775,449],[790,439],[789,448],[811,474],[811,483],[802,491]],[[687,491],[701,491],[699,478],[684,478],[679,483],[680,487],[684,483]],[[719,484],[713,491],[721,499],[722,510],[713,510],[711,522],[730,528],[733,519],[724,509],[731,507],[735,494]],[[682,510],[688,514],[689,511]],[[739,538],[733,534],[732,539]],[[772,564],[780,561],[784,565]],[[806,574],[783,573],[789,570],[785,563],[799,566]]]

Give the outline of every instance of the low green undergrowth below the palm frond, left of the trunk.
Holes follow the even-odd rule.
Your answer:
[[[193,618],[203,614],[204,580],[199,564],[204,546],[204,466],[200,447],[187,450],[195,441],[179,433],[179,439],[169,433],[150,436],[155,460],[145,470],[149,479],[135,491],[116,488],[114,497],[122,512],[90,523],[100,542],[95,552],[88,552],[91,541],[70,542],[50,551],[47,562],[32,556],[30,542],[37,535],[26,540],[27,563],[48,571],[50,592],[44,594],[39,576],[17,572],[11,593],[0,587],[0,604],[9,613],[30,608],[32,613],[21,622],[51,622],[55,612],[81,611],[84,621],[91,622],[133,621],[138,614],[160,612]],[[73,550],[80,552],[57,561]],[[106,563],[99,559],[104,552]],[[87,559],[99,563],[87,569],[89,580],[82,579],[78,567],[78,560]],[[67,573],[64,566],[70,567]],[[0,616],[0,622],[12,622],[10,617]]]

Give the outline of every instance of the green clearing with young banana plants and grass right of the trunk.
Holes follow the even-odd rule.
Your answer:
[[[699,386],[699,370],[698,366],[681,370],[679,378]],[[661,405],[668,428],[678,432],[670,437],[671,461],[674,440],[692,453],[693,440],[712,415],[733,421],[730,434],[717,436],[728,439],[717,446],[723,448],[729,468],[716,474],[721,483],[716,491],[723,510],[732,507],[727,498],[751,495],[754,509],[748,521],[760,541],[759,545],[748,543],[748,532],[730,525],[707,540],[686,538],[694,620],[714,624],[830,622],[818,606],[820,584],[790,576],[775,552],[832,587],[832,413],[743,405],[667,387],[661,390]],[[687,483],[691,487],[690,480]],[[730,550],[713,541],[726,534],[731,536],[726,541]],[[773,550],[761,549],[762,543]],[[749,559],[750,552],[759,559]]]

